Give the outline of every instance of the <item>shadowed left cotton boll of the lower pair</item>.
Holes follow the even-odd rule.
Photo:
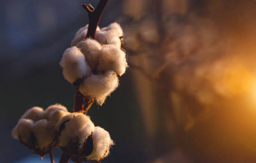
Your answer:
[[[57,146],[58,133],[54,125],[67,114],[67,108],[60,104],[51,105],[46,110],[32,107],[21,116],[13,129],[13,138],[43,156]]]

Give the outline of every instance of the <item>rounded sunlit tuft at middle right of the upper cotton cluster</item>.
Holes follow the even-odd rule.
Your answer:
[[[125,53],[120,48],[113,45],[103,46],[96,67],[97,72],[112,70],[121,76],[125,73],[127,67]]]

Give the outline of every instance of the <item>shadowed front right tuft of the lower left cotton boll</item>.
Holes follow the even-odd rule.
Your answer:
[[[54,124],[47,120],[39,120],[33,127],[33,133],[40,149],[50,147],[56,139]]]

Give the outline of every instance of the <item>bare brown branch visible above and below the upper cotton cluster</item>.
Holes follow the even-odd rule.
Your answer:
[[[94,9],[94,7],[92,7],[91,4],[89,4],[89,5],[83,4],[82,5],[84,10],[87,11],[88,17],[89,17],[89,26],[88,26],[86,38],[94,38],[95,37],[97,26],[100,22],[100,18],[102,16],[102,13],[103,13],[107,3],[108,3],[108,0],[100,0],[96,9]],[[77,92],[76,92],[76,96],[75,96],[74,112],[78,112],[80,110],[85,109],[85,113],[87,113],[87,110],[90,109],[90,107],[92,106],[94,101],[92,99],[89,99],[89,100],[86,99],[85,108],[83,108],[84,97],[78,91],[78,88],[79,88],[79,86],[77,86]]]

